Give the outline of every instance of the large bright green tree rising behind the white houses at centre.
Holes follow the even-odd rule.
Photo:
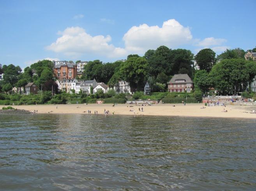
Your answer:
[[[130,83],[131,89],[140,90],[147,76],[148,62],[143,57],[130,57],[124,62],[120,71],[125,81]]]

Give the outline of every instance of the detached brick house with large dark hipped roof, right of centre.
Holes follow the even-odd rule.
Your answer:
[[[193,81],[187,74],[175,74],[167,83],[169,92],[191,92]]]

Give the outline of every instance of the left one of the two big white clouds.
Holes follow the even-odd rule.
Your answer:
[[[67,56],[78,56],[81,54],[97,54],[107,57],[126,56],[125,49],[115,47],[111,42],[111,36],[91,36],[81,27],[69,27],[62,32],[56,42],[46,49],[54,52],[64,53]]]

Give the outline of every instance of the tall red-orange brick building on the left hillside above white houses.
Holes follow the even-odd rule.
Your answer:
[[[54,66],[54,75],[57,79],[74,79],[77,75],[77,66],[75,63],[64,62]]]

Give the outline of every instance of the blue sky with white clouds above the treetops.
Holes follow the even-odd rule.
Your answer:
[[[255,0],[0,0],[0,63],[103,63],[165,45],[197,54],[256,46]]]

